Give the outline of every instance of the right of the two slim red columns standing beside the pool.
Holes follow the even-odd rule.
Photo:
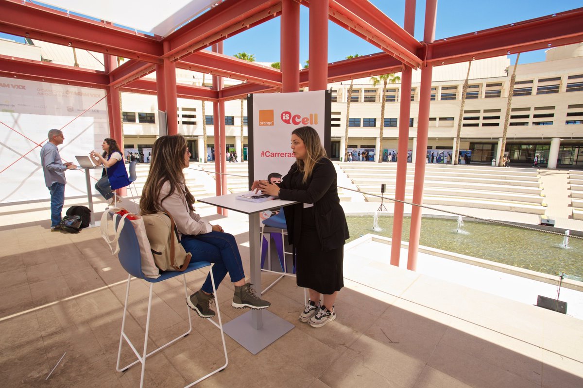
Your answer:
[[[437,0],[427,0],[425,9],[425,31],[423,40],[433,42],[436,31]],[[424,63],[421,69],[421,86],[419,92],[419,119],[417,119],[417,157],[415,161],[415,181],[413,183],[413,203],[423,204],[423,184],[425,181],[427,134],[429,131],[429,105],[431,102],[431,74],[433,67]],[[422,209],[413,206],[411,212],[411,230],[409,233],[409,257],[407,269],[417,269],[419,237],[421,236]]]

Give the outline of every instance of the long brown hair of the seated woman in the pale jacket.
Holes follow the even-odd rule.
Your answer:
[[[180,134],[161,136],[154,141],[150,156],[150,173],[142,191],[140,213],[152,214],[163,211],[161,203],[170,197],[175,190],[182,191],[184,182],[184,154],[188,148],[186,138]],[[164,183],[170,183],[170,193],[160,198],[160,191]],[[184,196],[188,208],[194,211],[194,197],[184,184]]]

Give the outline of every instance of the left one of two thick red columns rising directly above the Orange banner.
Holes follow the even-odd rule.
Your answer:
[[[282,92],[296,92],[300,90],[300,4],[294,0],[282,0],[280,36]]]

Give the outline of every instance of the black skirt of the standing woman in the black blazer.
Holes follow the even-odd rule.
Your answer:
[[[301,214],[300,241],[294,246],[296,252],[297,285],[333,294],[344,287],[342,262],[344,247],[322,251],[314,222],[314,208],[305,208]]]

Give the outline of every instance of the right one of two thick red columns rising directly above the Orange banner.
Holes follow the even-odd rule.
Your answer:
[[[328,88],[328,0],[310,2],[310,91]]]

